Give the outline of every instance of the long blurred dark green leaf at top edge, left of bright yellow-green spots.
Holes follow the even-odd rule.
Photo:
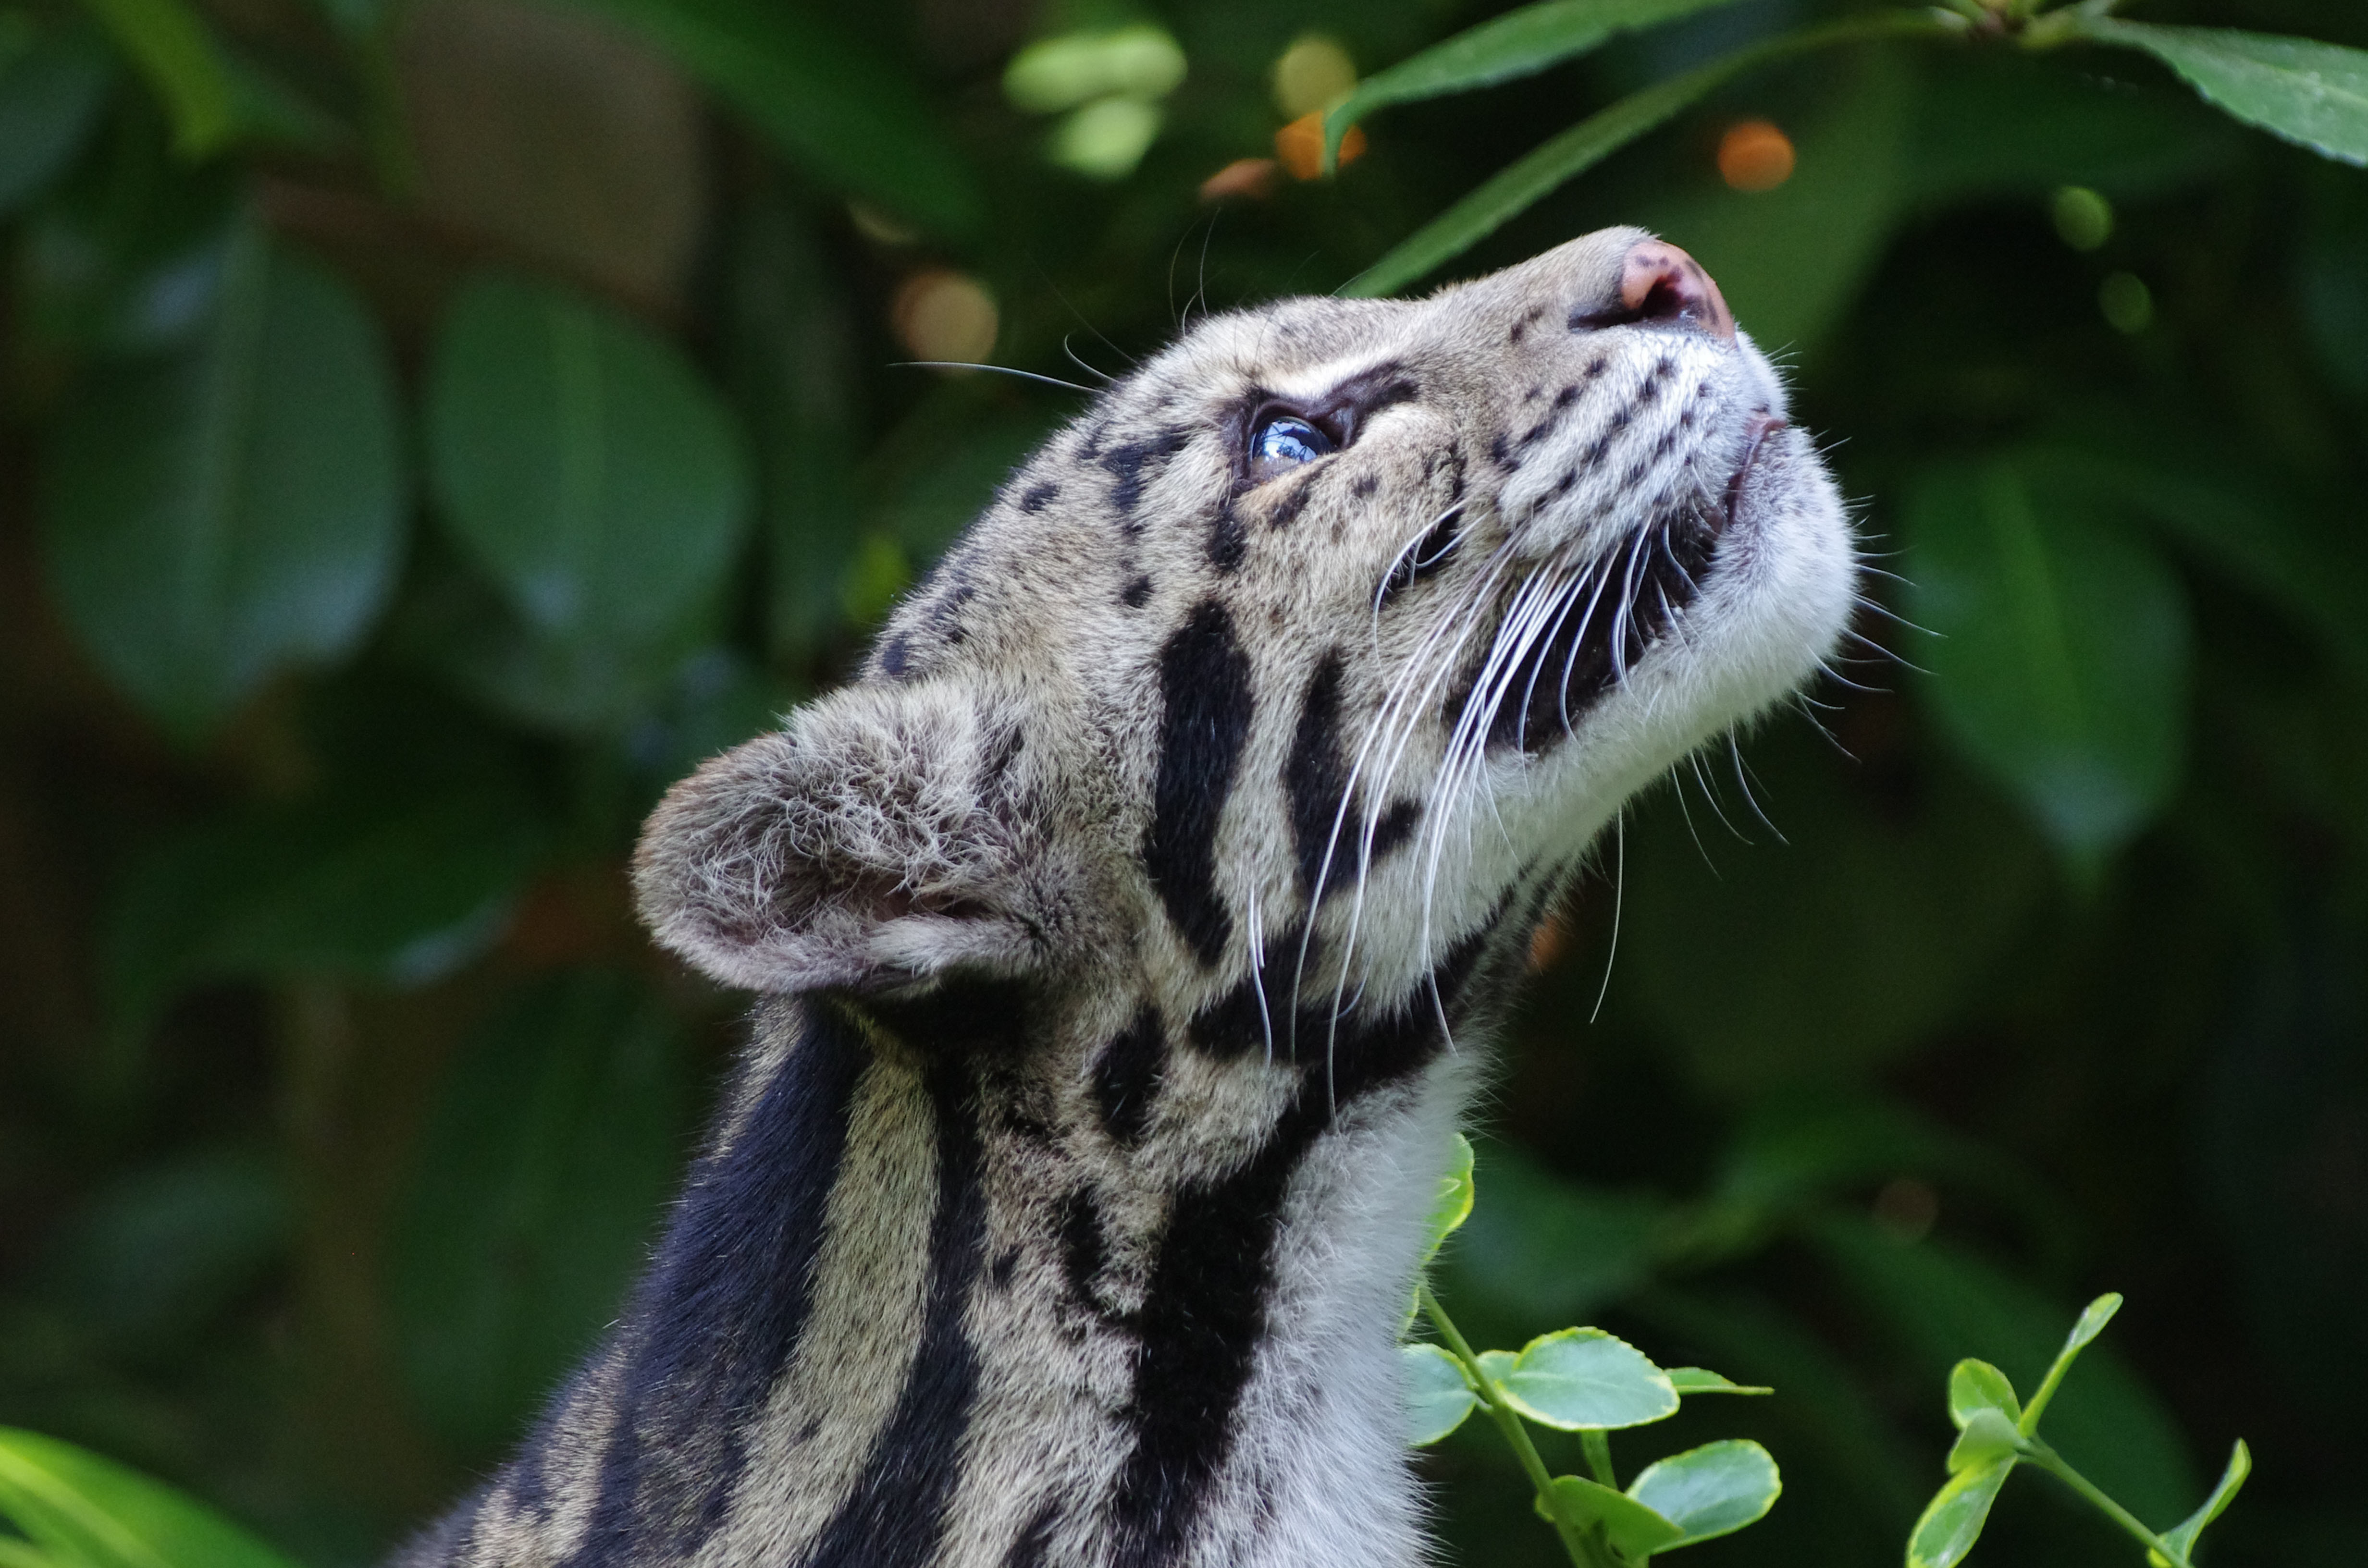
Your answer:
[[[985,218],[978,178],[921,85],[822,7],[580,0],[649,36],[760,135],[843,192],[945,234]]]

